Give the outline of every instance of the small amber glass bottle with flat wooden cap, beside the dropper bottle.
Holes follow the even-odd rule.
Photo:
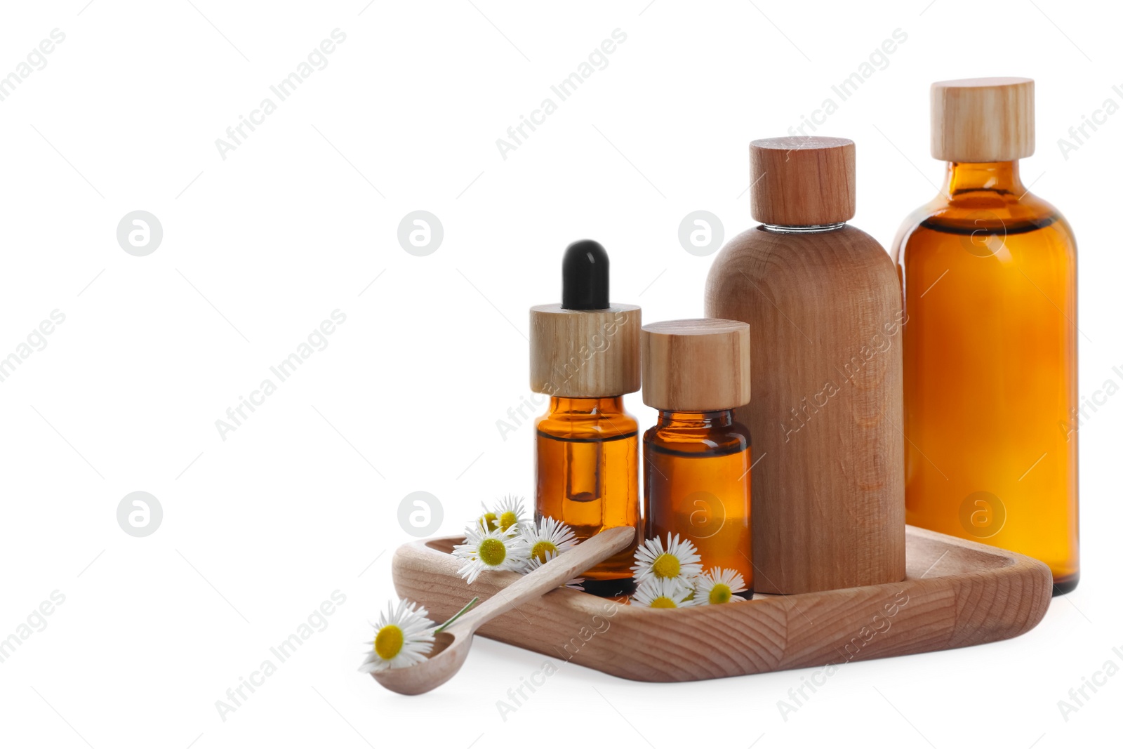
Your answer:
[[[749,326],[672,320],[643,326],[643,402],[659,421],[643,435],[647,538],[678,535],[702,568],[733,569],[752,595],[749,430],[733,409],[749,402]]]

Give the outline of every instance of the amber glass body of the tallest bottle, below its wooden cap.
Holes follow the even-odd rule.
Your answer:
[[[1079,579],[1076,244],[1017,164],[950,164],[894,250],[909,523]]]

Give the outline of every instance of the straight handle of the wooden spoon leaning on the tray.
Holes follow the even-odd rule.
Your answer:
[[[576,577],[578,573],[595,567],[613,554],[626,549],[634,536],[636,529],[624,526],[603,530],[596,536],[585,539],[573,549],[559,554],[535,572],[499,591],[462,616],[449,629],[456,628],[474,632],[495,616],[531,599],[549,593]]]

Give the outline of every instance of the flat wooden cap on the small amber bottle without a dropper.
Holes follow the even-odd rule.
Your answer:
[[[720,411],[750,398],[749,325],[704,318],[643,326],[643,402],[667,411]]]

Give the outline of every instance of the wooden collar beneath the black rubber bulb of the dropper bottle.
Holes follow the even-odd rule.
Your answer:
[[[640,309],[530,308],[530,390],[557,398],[614,398],[639,390]]]

